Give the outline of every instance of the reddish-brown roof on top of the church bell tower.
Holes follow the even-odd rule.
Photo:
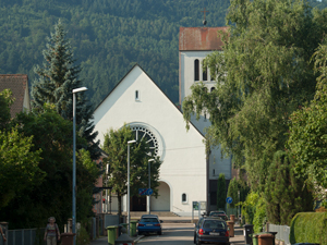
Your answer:
[[[180,27],[179,50],[221,50],[223,44],[218,30],[227,32],[228,27]]]

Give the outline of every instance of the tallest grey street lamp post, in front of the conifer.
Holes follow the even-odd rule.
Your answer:
[[[72,217],[72,232],[76,234],[76,93],[87,90],[86,87],[73,89],[73,217]],[[74,235],[74,245],[76,245],[76,235]]]

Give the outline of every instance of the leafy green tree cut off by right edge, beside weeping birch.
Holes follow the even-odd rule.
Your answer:
[[[318,73],[314,99],[291,115],[288,148],[295,171],[315,186],[315,197],[325,199],[327,188],[327,41],[322,44],[313,60]]]

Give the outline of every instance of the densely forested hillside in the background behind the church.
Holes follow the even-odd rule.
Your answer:
[[[229,0],[0,0],[0,73],[25,73],[33,83],[61,19],[94,107],[135,63],[177,102],[179,27],[202,26],[204,8],[207,26],[223,26],[228,7]]]

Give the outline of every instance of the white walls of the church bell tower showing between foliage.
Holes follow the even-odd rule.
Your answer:
[[[202,81],[202,61],[211,53],[211,51],[181,51],[180,52],[180,72],[181,72],[181,101],[184,100],[186,96],[191,95],[191,86],[195,83],[199,83]],[[194,81],[194,61],[199,61],[199,81]],[[210,91],[211,87],[215,87],[216,82],[211,81],[211,77],[207,75],[207,82],[203,82],[208,93]],[[195,117],[192,117],[191,122],[205,135],[205,128],[210,126],[211,123],[204,115],[201,117],[199,120],[196,120]],[[222,158],[220,148],[216,147],[209,157],[209,179],[215,180],[218,179],[219,173],[225,173],[225,177],[230,180],[231,179],[231,159],[230,158]]]

